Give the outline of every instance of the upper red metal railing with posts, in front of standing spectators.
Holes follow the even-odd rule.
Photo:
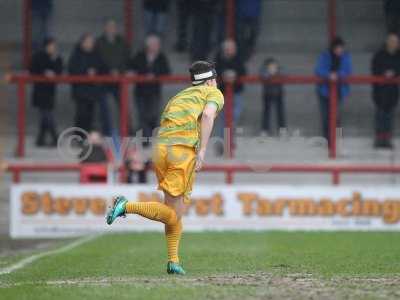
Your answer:
[[[25,98],[26,98],[26,85],[34,82],[53,82],[53,83],[115,83],[120,88],[120,134],[122,137],[128,136],[129,128],[129,85],[142,82],[160,82],[164,84],[176,84],[176,83],[189,83],[189,77],[184,75],[173,75],[173,76],[160,76],[157,78],[148,78],[146,76],[82,76],[82,75],[61,75],[55,77],[45,76],[32,76],[29,74],[17,74],[10,76],[10,82],[16,83],[18,87],[18,115],[17,115],[17,127],[18,127],[18,144],[17,144],[17,156],[23,157],[25,155]],[[280,76],[273,79],[264,79],[259,76],[243,76],[239,78],[239,82],[245,84],[319,84],[323,82],[329,82],[330,85],[330,146],[329,156],[336,158],[336,120],[337,120],[337,84],[335,80],[324,80],[316,76]],[[388,79],[386,77],[376,76],[350,76],[343,80],[348,84],[400,84],[400,78]],[[234,156],[233,150],[233,84],[227,83],[225,89],[225,126],[229,129],[229,157]]]

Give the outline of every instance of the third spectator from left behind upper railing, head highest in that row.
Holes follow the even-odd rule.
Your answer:
[[[103,34],[96,40],[96,51],[109,74],[118,76],[126,71],[130,49],[119,34],[115,20],[106,21]],[[100,99],[100,114],[103,120],[102,131],[106,136],[110,136],[112,132],[111,113],[107,99],[110,94],[119,103],[119,87],[117,84],[104,85],[103,96]]]

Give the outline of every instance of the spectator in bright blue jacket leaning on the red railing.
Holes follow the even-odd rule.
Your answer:
[[[344,79],[351,74],[352,64],[351,56],[345,50],[345,43],[340,37],[336,37],[331,42],[328,50],[321,53],[315,67],[315,74],[327,80],[340,80]],[[338,83],[338,108],[342,104],[345,97],[350,93],[350,87],[346,83]],[[319,98],[321,121],[322,121],[322,135],[329,140],[329,84],[323,83],[317,86],[317,94]],[[340,110],[337,110],[337,124],[340,123]]]

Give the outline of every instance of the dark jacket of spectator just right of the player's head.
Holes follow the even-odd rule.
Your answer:
[[[226,58],[221,52],[217,54],[215,58],[215,69],[217,71],[218,76],[222,78],[225,71],[233,70],[236,72],[236,76],[246,75],[246,68],[244,66],[243,60],[239,55],[236,55],[232,58]],[[220,89],[224,91],[225,85],[223,80],[220,80]],[[235,83],[234,92],[240,93],[243,90],[243,84]]]

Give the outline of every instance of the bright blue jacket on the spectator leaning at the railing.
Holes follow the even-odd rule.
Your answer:
[[[332,54],[329,50],[324,51],[318,58],[317,65],[315,67],[315,75],[320,76],[322,78],[328,78],[331,73],[332,67]],[[351,75],[352,72],[352,64],[351,64],[351,56],[348,52],[345,52],[340,61],[340,66],[337,71],[340,79],[344,79],[347,76]],[[340,99],[343,100],[344,97],[350,94],[350,86],[347,83],[339,84],[340,91]],[[327,83],[319,84],[317,86],[317,93],[323,97],[329,97],[329,86]]]

